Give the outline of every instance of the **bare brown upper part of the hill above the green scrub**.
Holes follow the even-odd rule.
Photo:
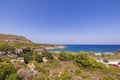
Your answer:
[[[0,34],[0,42],[7,44],[32,43],[32,41],[28,40],[24,36],[17,36],[11,34]]]

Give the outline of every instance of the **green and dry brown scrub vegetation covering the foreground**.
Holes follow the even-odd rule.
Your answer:
[[[15,50],[13,45],[0,44],[1,51],[6,51],[6,49],[9,51]],[[106,55],[102,56],[106,57]],[[23,64],[19,62],[12,62],[11,64],[10,60],[19,57],[24,58]],[[93,76],[100,80],[119,80],[120,69],[113,66],[107,67],[103,63],[96,62],[95,58],[97,57],[93,52],[73,53],[62,51],[60,53],[51,53],[46,49],[39,52],[27,47],[16,58],[9,58],[5,55],[0,56],[0,80],[22,80],[26,75],[33,75],[28,80],[85,80],[88,78],[93,80]],[[46,59],[47,62],[43,59]],[[29,63],[33,63],[35,68],[34,66],[32,70],[30,67],[28,68]],[[21,69],[23,69],[23,73],[17,74]],[[25,75],[24,71],[30,74]],[[34,75],[35,73],[36,75]],[[22,74],[25,76],[20,76]],[[112,77],[110,77],[111,75]]]

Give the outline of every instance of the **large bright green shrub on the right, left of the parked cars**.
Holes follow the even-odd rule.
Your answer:
[[[85,52],[80,52],[75,57],[75,63],[82,68],[90,69],[90,70],[101,70],[104,72],[108,72],[108,68],[103,63],[98,63],[89,56],[89,54]]]

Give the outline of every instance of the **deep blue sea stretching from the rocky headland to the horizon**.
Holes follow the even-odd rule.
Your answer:
[[[116,52],[120,50],[120,45],[65,45],[64,49],[56,49],[53,51],[93,51],[95,53]]]

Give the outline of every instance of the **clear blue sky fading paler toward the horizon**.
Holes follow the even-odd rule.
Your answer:
[[[120,44],[120,0],[0,0],[0,33],[49,44]]]

